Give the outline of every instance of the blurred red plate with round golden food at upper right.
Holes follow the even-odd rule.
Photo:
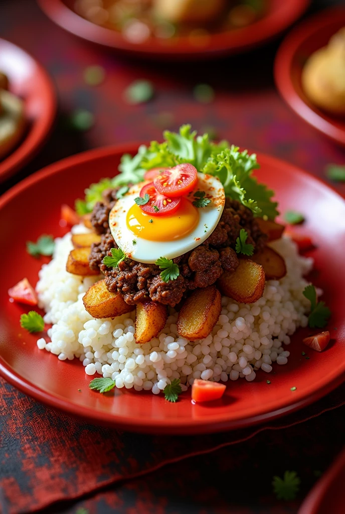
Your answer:
[[[277,87],[301,118],[340,144],[345,144],[345,118],[321,111],[303,93],[301,74],[305,60],[345,25],[345,9],[322,11],[292,30],[280,46],[274,65]]]

